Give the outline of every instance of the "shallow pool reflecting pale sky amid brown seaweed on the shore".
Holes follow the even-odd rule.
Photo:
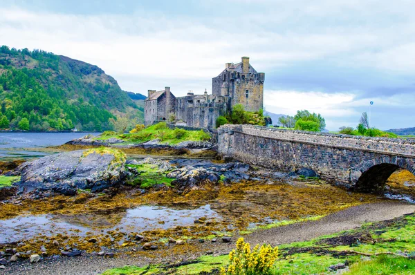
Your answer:
[[[0,243],[19,242],[35,236],[85,236],[87,233],[102,234],[119,229],[124,233],[167,229],[174,226],[192,225],[203,216],[219,218],[210,205],[196,209],[171,209],[168,207],[141,206],[109,214],[86,214],[77,216],[26,216],[0,220]]]

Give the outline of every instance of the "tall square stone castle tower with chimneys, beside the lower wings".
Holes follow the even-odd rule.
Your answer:
[[[213,95],[230,98],[230,108],[242,104],[246,111],[264,108],[265,73],[257,73],[242,57],[238,64],[226,63],[225,70],[212,79]]]

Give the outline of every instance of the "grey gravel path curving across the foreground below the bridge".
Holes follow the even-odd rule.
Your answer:
[[[295,241],[311,240],[318,236],[333,234],[338,231],[360,227],[365,222],[378,222],[390,220],[404,214],[410,214],[415,211],[415,205],[409,205],[405,202],[385,200],[367,205],[351,207],[335,214],[326,216],[320,220],[300,222],[284,227],[277,227],[268,230],[256,231],[246,240],[253,246],[257,243],[269,243],[270,245],[281,245]],[[234,248],[232,243],[203,243],[203,248],[210,249],[215,255],[226,254]],[[199,255],[194,255],[199,256]],[[183,258],[183,257],[181,257]],[[159,261],[172,262],[178,258],[158,259]],[[28,260],[8,265],[6,269],[0,269],[3,274],[76,274],[76,275],[93,275],[101,274],[106,269],[113,267],[122,267],[124,265],[146,265],[148,259],[131,258],[131,256],[120,255],[116,258],[100,258],[98,256],[79,256],[76,258],[61,257],[58,260],[44,260],[34,265],[30,265]]]

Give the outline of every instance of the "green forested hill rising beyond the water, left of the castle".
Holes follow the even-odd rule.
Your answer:
[[[104,70],[42,50],[0,48],[0,129],[104,131],[142,107]]]

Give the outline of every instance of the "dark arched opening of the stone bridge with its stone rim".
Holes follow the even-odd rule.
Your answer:
[[[358,171],[360,176],[356,180],[356,191],[370,192],[382,189],[394,171],[407,169],[415,175],[415,163],[413,159],[399,158],[395,156],[376,158],[360,164]]]

